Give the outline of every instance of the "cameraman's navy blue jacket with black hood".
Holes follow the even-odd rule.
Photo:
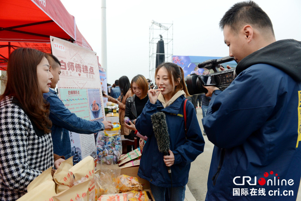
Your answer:
[[[286,60],[287,68],[298,73],[300,44],[288,42],[295,43],[296,48],[291,58],[282,59]],[[285,44],[287,41],[277,41],[239,64],[261,59],[261,51],[273,46],[283,49]],[[272,50],[278,54],[275,59],[269,54],[275,62],[282,51]],[[289,59],[296,64],[299,60],[299,64],[291,65]],[[296,200],[301,176],[301,82],[298,80],[301,75],[296,74],[294,78],[284,72],[284,65],[280,70],[260,63],[245,66],[225,91],[216,90],[202,120],[209,141],[215,145],[206,200]],[[289,180],[293,180],[292,185],[288,184]],[[248,191],[248,195],[242,195],[241,189]],[[251,189],[257,195],[251,195]],[[258,195],[263,190],[264,195]],[[289,192],[291,196],[284,196]]]

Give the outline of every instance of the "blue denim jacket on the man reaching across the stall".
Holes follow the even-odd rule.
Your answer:
[[[87,121],[71,113],[52,89],[43,94],[43,97],[50,104],[49,118],[52,121],[53,153],[64,156],[65,159],[71,157],[71,141],[68,131],[92,134],[104,130],[103,123]]]

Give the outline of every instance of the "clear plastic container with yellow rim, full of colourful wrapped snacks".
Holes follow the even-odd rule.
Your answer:
[[[121,155],[120,125],[115,124],[111,130],[100,131],[97,137],[97,159],[102,164],[117,164]]]

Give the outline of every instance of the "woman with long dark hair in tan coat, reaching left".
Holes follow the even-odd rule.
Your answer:
[[[124,113],[125,113],[125,102],[131,94],[131,83],[127,76],[122,76],[119,78],[119,87],[121,94],[118,99],[114,99],[111,96],[104,95],[104,98],[108,98],[108,101],[114,102],[118,104],[119,110],[119,124],[121,126],[120,133],[121,135],[127,136],[129,135],[130,130],[124,126]]]

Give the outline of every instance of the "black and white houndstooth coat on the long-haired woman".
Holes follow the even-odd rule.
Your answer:
[[[38,137],[12,98],[0,102],[0,200],[16,200],[28,184],[53,166],[51,134]]]

